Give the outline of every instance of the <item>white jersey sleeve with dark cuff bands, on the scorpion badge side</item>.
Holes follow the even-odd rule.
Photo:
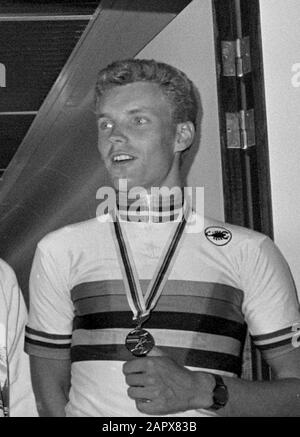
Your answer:
[[[240,272],[243,312],[254,344],[273,358],[298,347],[300,312],[289,266],[269,238],[249,244]]]

